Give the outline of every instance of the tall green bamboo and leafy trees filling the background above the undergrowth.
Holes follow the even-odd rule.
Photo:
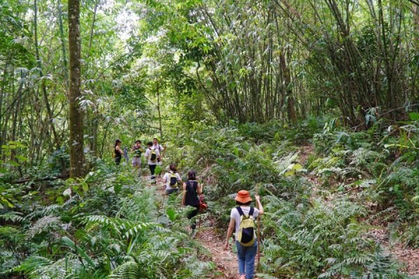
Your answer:
[[[141,129],[161,132],[156,97],[164,94],[176,106],[189,103],[179,117],[197,121],[296,123],[334,114],[335,124],[363,129],[404,119],[419,100],[417,4],[82,1],[80,59],[73,59],[81,61],[82,80],[74,84],[66,3],[3,1],[0,144],[25,142],[29,165],[54,152],[66,172],[59,157],[74,142],[83,144],[73,157],[86,148],[103,156],[110,119],[122,111],[141,111]],[[67,114],[78,119],[77,140]],[[156,118],[159,125],[147,123]]]

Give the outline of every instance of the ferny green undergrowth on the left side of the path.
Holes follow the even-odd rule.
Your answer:
[[[80,181],[8,186],[20,198],[1,209],[2,277],[197,278],[214,268],[198,259],[207,252],[183,211],[131,169],[99,163]]]

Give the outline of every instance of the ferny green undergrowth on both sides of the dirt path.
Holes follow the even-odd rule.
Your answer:
[[[383,126],[197,125],[168,143],[166,162],[198,170],[209,204],[203,218],[220,232],[234,193],[258,190],[266,212],[260,278],[405,278],[369,231],[387,227],[392,243],[419,247],[418,122]],[[1,276],[211,276],[214,264],[189,236],[179,197],[163,198],[127,167],[93,164],[78,181],[2,178]]]

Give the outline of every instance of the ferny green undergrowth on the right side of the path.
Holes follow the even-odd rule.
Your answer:
[[[221,229],[237,190],[263,196],[265,276],[404,277],[369,230],[388,225],[393,243],[419,245],[418,123],[397,130],[376,123],[357,133],[319,128],[311,121],[292,129],[279,123],[204,129],[179,149],[177,160],[185,169],[202,167]],[[303,166],[299,156],[309,142],[316,152]]]

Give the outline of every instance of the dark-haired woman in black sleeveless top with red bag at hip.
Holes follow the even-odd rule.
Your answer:
[[[188,172],[188,181],[183,183],[183,196],[181,206],[195,207],[193,211],[188,213],[188,219],[191,220],[198,214],[199,211],[199,198],[198,195],[203,194],[203,186],[196,181],[196,172],[191,169]],[[196,229],[196,222],[191,224],[192,232]]]

